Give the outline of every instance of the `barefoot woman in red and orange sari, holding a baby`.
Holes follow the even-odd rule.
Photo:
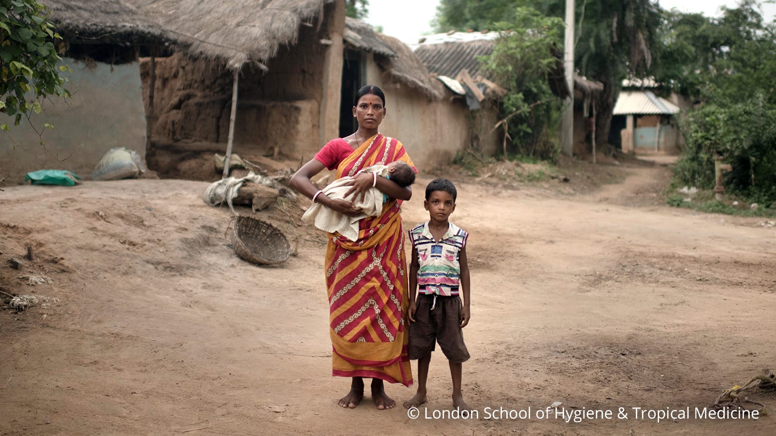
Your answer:
[[[404,146],[377,131],[386,116],[385,95],[367,85],[355,95],[353,116],[359,130],[329,141],[291,178],[291,186],[305,196],[339,213],[355,216],[360,209],[342,199],[330,199],[310,182],[324,168],[337,170],[337,178],[360,169],[393,161],[412,163]],[[417,170],[415,170],[417,172]],[[324,265],[329,297],[329,334],[332,375],[352,377],[351,389],[339,400],[341,407],[356,407],[364,396],[363,377],[372,378],[372,401],[379,410],[396,403],[386,395],[383,380],[411,386],[407,358],[407,270],[404,230],[399,208],[410,199],[409,186],[387,178],[361,174],[345,198],[364,196],[372,186],[390,197],[376,217],[360,221],[359,238],[351,241],[329,234]]]

